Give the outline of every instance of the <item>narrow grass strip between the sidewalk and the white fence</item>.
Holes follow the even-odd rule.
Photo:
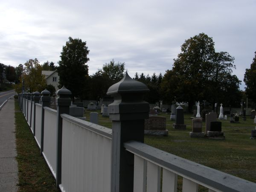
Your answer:
[[[19,191],[22,192],[54,192],[55,179],[52,176],[33,134],[20,111],[15,99],[15,125]]]

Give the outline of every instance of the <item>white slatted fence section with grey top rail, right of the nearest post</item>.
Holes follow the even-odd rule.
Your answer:
[[[134,192],[177,191],[177,175],[183,177],[182,191],[197,192],[198,184],[211,192],[253,192],[256,183],[177,157],[137,141],[125,143],[134,154]],[[163,175],[161,175],[163,169]]]

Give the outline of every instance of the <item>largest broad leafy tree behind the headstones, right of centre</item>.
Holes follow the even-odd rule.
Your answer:
[[[198,100],[207,100],[213,105],[236,102],[223,99],[236,90],[239,97],[239,79],[232,76],[234,58],[227,52],[215,52],[212,38],[204,33],[189,38],[181,46],[181,53],[174,59],[172,70],[167,70],[161,83],[165,100],[176,99],[188,102],[189,111]],[[223,99],[223,100],[222,100]]]

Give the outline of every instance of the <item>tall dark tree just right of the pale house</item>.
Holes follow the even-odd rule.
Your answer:
[[[62,47],[61,60],[57,69],[60,77],[60,88],[64,85],[69,89],[73,97],[84,98],[88,86],[88,65],[89,58],[86,41],[79,38],[69,37],[69,41]]]

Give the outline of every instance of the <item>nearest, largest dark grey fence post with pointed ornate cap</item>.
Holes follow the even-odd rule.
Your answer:
[[[131,192],[134,184],[134,154],[123,147],[129,140],[144,142],[144,119],[148,118],[149,104],[143,101],[148,87],[128,76],[108,89],[114,97],[108,105],[112,119],[111,192]]]

